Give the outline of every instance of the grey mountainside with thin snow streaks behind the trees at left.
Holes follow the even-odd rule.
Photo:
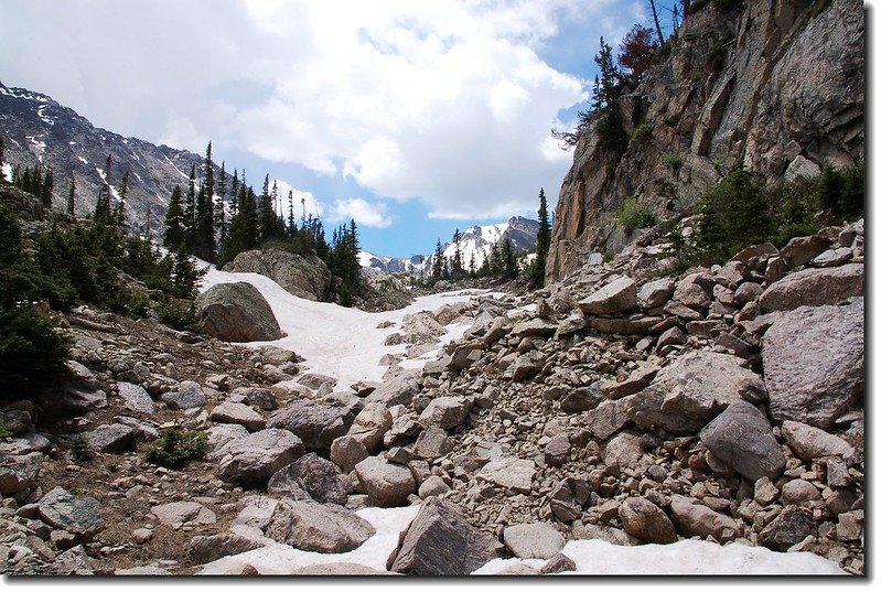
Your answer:
[[[116,191],[130,171],[126,215],[132,227],[159,229],[171,190],[185,187],[191,166],[204,164],[198,154],[154,146],[137,138],[94,127],[86,118],[46,95],[0,83],[0,133],[4,164],[52,169],[53,204],[64,209],[72,176],[76,180],[76,214],[94,212],[98,192],[110,183]],[[109,177],[107,155],[111,157]],[[7,174],[10,171],[4,171]],[[219,168],[217,168],[219,173]]]

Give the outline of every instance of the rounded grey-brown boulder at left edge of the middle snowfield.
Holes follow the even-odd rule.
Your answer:
[[[196,299],[205,332],[226,342],[268,342],[284,336],[272,309],[250,283],[218,283]]]

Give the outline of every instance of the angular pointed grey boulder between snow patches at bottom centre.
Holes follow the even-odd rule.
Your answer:
[[[412,575],[468,575],[495,559],[495,537],[465,520],[459,506],[428,499],[410,524],[388,569]]]

